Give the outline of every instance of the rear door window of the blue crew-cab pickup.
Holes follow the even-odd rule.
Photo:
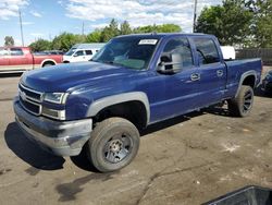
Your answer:
[[[212,39],[195,38],[196,49],[200,64],[210,64],[220,62],[217,46]]]

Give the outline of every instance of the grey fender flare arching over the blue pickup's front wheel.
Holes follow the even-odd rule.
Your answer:
[[[95,117],[99,111],[109,106],[114,106],[127,101],[140,101],[144,104],[146,108],[148,124],[150,120],[150,106],[147,95],[143,92],[123,93],[97,99],[89,106],[87,117]]]

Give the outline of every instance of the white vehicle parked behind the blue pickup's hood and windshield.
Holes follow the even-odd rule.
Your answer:
[[[89,61],[104,44],[76,44],[64,56],[63,62]]]

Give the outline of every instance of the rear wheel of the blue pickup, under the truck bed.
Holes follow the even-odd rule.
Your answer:
[[[227,105],[232,116],[248,116],[254,106],[254,89],[250,86],[243,85],[238,96],[234,99],[227,100]]]

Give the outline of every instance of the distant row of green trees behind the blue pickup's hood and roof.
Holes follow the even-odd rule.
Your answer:
[[[59,36],[55,36],[52,41],[38,39],[35,43],[30,44],[30,47],[34,51],[42,51],[50,49],[66,51],[75,44],[106,43],[119,35],[127,35],[132,33],[152,33],[152,32],[172,33],[181,31],[182,31],[181,27],[175,24],[149,25],[132,29],[127,21],[121,23],[119,28],[119,23],[113,19],[111,20],[110,24],[104,28],[95,29],[92,33],[89,33],[86,36],[71,34],[71,33],[62,33]]]

